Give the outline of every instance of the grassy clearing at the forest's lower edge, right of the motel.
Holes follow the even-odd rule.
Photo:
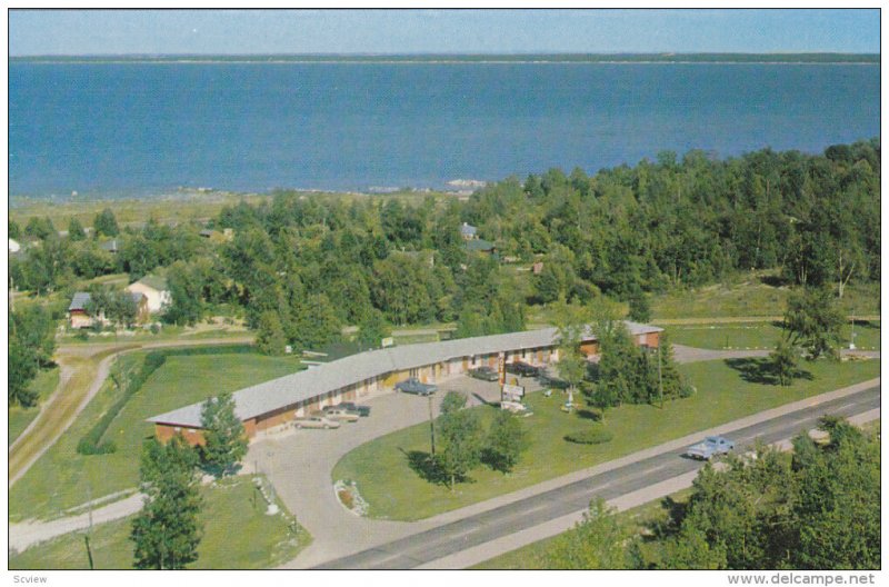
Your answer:
[[[770,283],[769,276],[753,275],[737,283],[677,289],[652,298],[652,316],[655,320],[782,316],[791,290]],[[851,283],[839,305],[847,315],[879,315],[880,285]]]

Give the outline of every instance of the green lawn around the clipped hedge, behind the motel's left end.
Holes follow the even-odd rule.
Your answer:
[[[127,355],[126,360],[141,361],[143,356],[143,351],[133,352]],[[146,418],[300,368],[293,357],[266,357],[253,352],[170,356],[106,432],[106,438],[118,445],[117,452],[79,455],[78,441],[116,399],[111,386],[106,384],[71,427],[12,486],[10,520],[59,517],[66,509],[89,501],[87,496],[96,499],[136,487],[142,440],[153,434]]]

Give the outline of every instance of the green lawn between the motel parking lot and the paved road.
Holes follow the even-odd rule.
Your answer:
[[[579,412],[565,414],[562,398],[530,394],[527,402],[535,415],[523,419],[531,439],[516,470],[510,475],[479,467],[471,481],[451,493],[414,474],[407,454],[429,450],[429,427],[413,426],[378,438],[346,455],[333,469],[333,480],[351,479],[370,504],[374,518],[422,519],[485,499],[515,491],[553,477],[605,462],[642,448],[678,438],[696,430],[723,424],[757,411],[830,391],[852,382],[878,377],[877,360],[831,364],[802,364],[812,379],[797,379],[790,387],[745,381],[738,370],[723,361],[689,364],[680,370],[695,384],[698,394],[668,402],[661,410],[653,406],[622,406],[608,411],[607,426],[613,440],[603,445],[576,445],[563,436],[590,426]],[[480,407],[488,419],[495,408]]]

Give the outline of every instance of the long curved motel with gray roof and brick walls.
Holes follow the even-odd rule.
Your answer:
[[[662,328],[625,322],[637,345],[657,348]],[[580,350],[599,354],[596,335],[586,328]],[[481,366],[498,367],[523,361],[546,367],[559,360],[556,328],[526,330],[440,342],[406,345],[351,355],[309,369],[236,391],[234,414],[251,439],[278,431],[291,420],[341,401],[358,401],[391,394],[408,377],[434,384]],[[149,418],[160,440],[181,434],[189,442],[203,444],[201,406],[192,404]]]

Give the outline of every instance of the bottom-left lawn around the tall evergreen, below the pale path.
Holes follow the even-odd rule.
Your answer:
[[[202,488],[203,538],[196,569],[261,569],[292,559],[311,537],[287,513],[266,515],[266,503],[251,477],[226,479]],[[96,526],[90,538],[97,569],[131,569],[132,517]],[[9,557],[10,569],[87,569],[86,531],[59,536]]]

